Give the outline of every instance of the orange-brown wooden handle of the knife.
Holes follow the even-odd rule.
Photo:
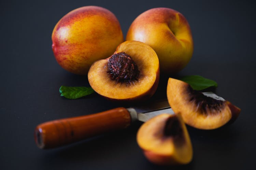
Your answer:
[[[126,128],[131,115],[124,107],[73,118],[39,124],[34,139],[41,149],[48,149],[80,141],[105,132]]]

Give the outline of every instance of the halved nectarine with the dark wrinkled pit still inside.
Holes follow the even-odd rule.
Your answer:
[[[88,81],[98,94],[109,99],[150,98],[159,82],[158,57],[142,42],[125,41],[112,56],[90,67]]]

